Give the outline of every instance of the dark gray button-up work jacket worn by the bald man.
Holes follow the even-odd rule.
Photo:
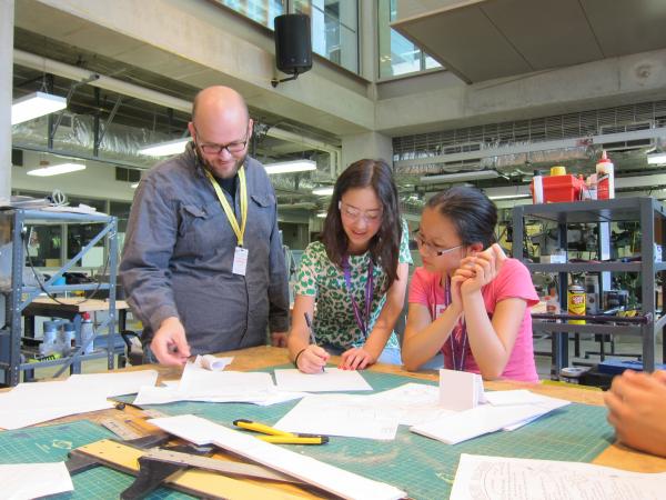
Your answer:
[[[184,324],[192,354],[265,344],[268,323],[271,331],[287,331],[287,278],[275,192],[262,164],[250,157],[245,177],[244,277],[231,272],[238,239],[192,143],[142,179],[120,279],[144,324],[144,343],[171,316]],[[234,198],[238,218],[240,181]]]

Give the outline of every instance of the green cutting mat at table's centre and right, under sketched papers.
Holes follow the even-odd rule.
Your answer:
[[[375,391],[416,381],[372,371],[362,374]],[[180,402],[151,408],[171,416],[193,413],[233,428],[231,422],[235,419],[274,424],[296,403],[259,407]],[[332,438],[322,447],[289,446],[289,449],[396,486],[412,498],[424,500],[448,498],[461,453],[589,462],[613,441],[605,408],[573,403],[515,431],[495,432],[455,446],[424,438],[400,426],[394,441]]]

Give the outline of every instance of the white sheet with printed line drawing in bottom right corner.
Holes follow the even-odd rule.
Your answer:
[[[607,500],[664,498],[666,473],[592,463],[461,454],[451,500]]]

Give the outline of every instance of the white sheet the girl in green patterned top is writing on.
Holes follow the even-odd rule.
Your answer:
[[[356,370],[326,368],[317,373],[303,373],[301,370],[275,370],[275,382],[282,391],[296,392],[343,392],[372,391],[372,387]]]

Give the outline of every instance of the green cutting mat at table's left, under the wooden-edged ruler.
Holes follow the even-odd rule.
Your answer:
[[[87,420],[58,426],[36,427],[0,432],[0,463],[60,462],[67,453],[100,439],[114,437],[101,426]],[[49,497],[49,499],[118,499],[133,477],[97,467],[72,476],[74,491]],[[0,486],[0,489],[2,487]],[[0,493],[1,496],[1,493]],[[161,488],[150,499],[191,499],[184,493]]]

